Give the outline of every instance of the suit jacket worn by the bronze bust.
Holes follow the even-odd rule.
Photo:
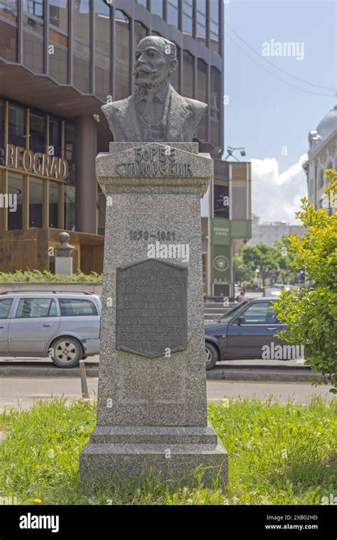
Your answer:
[[[165,142],[191,142],[198,123],[207,109],[205,103],[183,97],[170,85],[166,95],[169,100],[166,117]],[[136,112],[134,96],[102,106],[114,141],[142,141],[141,125]]]

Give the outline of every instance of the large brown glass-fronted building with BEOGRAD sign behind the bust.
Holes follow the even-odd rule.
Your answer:
[[[147,35],[176,43],[173,86],[208,103],[195,140],[220,157],[222,0],[1,2],[0,270],[53,270],[50,247],[67,230],[75,268],[102,271],[95,157],[112,134],[100,107],[132,92],[135,47]]]

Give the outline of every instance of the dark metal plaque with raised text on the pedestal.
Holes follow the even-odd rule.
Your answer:
[[[187,348],[187,275],[157,259],[117,268],[117,349],[154,358]]]

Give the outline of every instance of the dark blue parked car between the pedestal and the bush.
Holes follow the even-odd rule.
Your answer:
[[[286,344],[274,337],[286,328],[270,309],[275,300],[275,297],[245,300],[217,322],[205,324],[206,369],[213,369],[219,360],[259,359],[266,345],[274,350],[274,346]]]

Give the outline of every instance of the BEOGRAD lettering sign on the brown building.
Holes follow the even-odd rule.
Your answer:
[[[0,149],[0,165],[57,180],[66,180],[69,171],[66,159],[48,156],[42,152],[33,152],[23,147],[16,147],[14,144],[7,144],[6,152]]]

